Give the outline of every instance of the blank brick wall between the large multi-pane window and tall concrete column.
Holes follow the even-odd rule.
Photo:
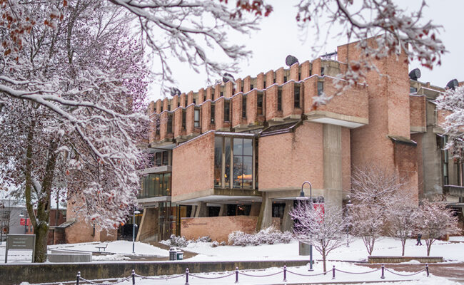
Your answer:
[[[295,133],[259,138],[260,190],[298,188],[306,180],[315,188],[323,188],[322,126],[304,122]]]

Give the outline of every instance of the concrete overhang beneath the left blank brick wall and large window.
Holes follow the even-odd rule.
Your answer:
[[[183,195],[175,195],[172,197],[172,202],[176,202],[176,204],[198,204],[199,202],[216,204],[261,202],[261,193],[258,190],[215,188]]]

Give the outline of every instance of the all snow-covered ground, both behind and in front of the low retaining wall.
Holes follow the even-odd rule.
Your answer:
[[[432,256],[443,256],[446,259],[446,262],[456,262],[464,261],[464,242],[462,237],[453,237],[450,239],[453,242],[442,242],[437,241],[433,244],[432,247]],[[455,243],[459,242],[459,243]],[[79,251],[88,251],[88,252],[98,252],[100,243],[86,243],[86,244],[59,244],[49,247],[49,249],[69,249],[69,250],[79,250]],[[211,247],[211,243],[193,243],[188,244],[188,247],[183,248],[190,252],[196,252],[198,255],[192,257],[191,259],[186,259],[185,261],[243,261],[243,260],[297,260],[297,259],[308,259],[308,257],[301,257],[298,255],[298,242],[291,242],[290,244],[272,244],[272,245],[260,245],[260,246],[248,246],[248,247],[233,247],[233,246],[219,246]],[[132,254],[132,243],[131,242],[109,242],[108,247],[106,248],[106,253],[111,253],[108,255],[96,256],[94,262],[109,262],[111,260],[122,260]],[[360,284],[365,281],[378,281],[378,284],[381,281],[397,281],[388,284],[395,285],[455,285],[458,284],[455,281],[450,281],[438,276],[426,277],[425,272],[414,276],[400,276],[395,275],[391,272],[385,271],[385,279],[380,279],[380,270],[372,271],[365,266],[357,266],[355,264],[343,261],[361,261],[365,260],[367,257],[367,252],[363,245],[363,242],[360,239],[354,239],[350,242],[350,247],[343,246],[339,249],[336,249],[334,252],[331,252],[328,256],[327,269],[331,269],[332,266],[336,266],[336,269],[341,271],[349,271],[352,273],[358,272],[368,272],[367,274],[347,274],[340,271],[336,272],[336,279],[332,280],[331,272],[327,275],[318,275],[318,276],[301,276],[297,274],[321,274],[322,262],[317,261],[321,259],[321,256],[316,252],[314,253],[314,259],[316,259],[316,264],[314,265],[314,271],[309,272],[308,266],[299,266],[299,267],[289,267],[287,272],[288,284],[292,283],[302,283],[302,282],[333,282],[333,281],[350,281],[356,282],[359,281]],[[391,238],[380,239],[374,249],[373,255],[390,255],[390,256],[399,256],[401,253],[400,242]],[[4,254],[4,245],[0,247],[0,254]],[[406,256],[425,256],[425,245],[415,246],[415,240],[410,239],[406,243],[405,255]],[[168,251],[163,249],[158,249],[148,244],[136,243],[136,253],[138,256],[146,255],[158,255],[158,256],[167,256]],[[1,258],[0,256],[0,258]],[[120,257],[118,259],[116,257]],[[29,254],[30,258],[30,254]],[[113,258],[113,259],[111,259]],[[11,259],[11,254],[9,254],[9,259]],[[15,262],[12,260],[12,262]],[[17,261],[16,261],[17,262]],[[26,262],[26,261],[24,261]],[[418,261],[409,261],[408,264],[417,264]],[[385,265],[388,268],[388,264]],[[269,268],[263,270],[251,270],[251,271],[240,271],[239,275],[240,284],[278,284],[282,283],[283,272],[281,268]],[[397,274],[410,274],[411,272],[401,272],[394,271]],[[230,276],[227,276],[231,274]],[[243,274],[253,275],[246,276]],[[272,275],[275,274],[275,275]],[[432,272],[433,274],[433,272]],[[256,277],[272,275],[266,277]],[[464,275],[464,274],[463,274]],[[173,278],[172,277],[176,277]],[[224,278],[219,278],[221,276],[227,276]],[[85,278],[85,276],[83,276]],[[168,277],[168,281],[166,280]],[[204,277],[208,279],[201,279],[199,277]],[[173,275],[173,276],[152,276],[156,279],[141,279],[138,277],[136,279],[137,285],[156,285],[156,284],[185,284],[185,274],[183,275]],[[403,280],[400,282],[399,280]],[[404,281],[406,280],[406,281]],[[202,273],[196,274],[193,273],[190,275],[189,283],[192,285],[195,284],[231,284],[235,281],[234,272],[216,272],[216,273]],[[131,281],[124,281],[121,283],[123,285],[130,285]],[[24,283],[23,285],[26,285]]]

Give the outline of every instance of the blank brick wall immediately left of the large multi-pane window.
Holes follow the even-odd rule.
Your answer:
[[[214,132],[173,149],[172,197],[213,189]]]

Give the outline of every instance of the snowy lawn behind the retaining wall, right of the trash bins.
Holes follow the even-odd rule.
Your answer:
[[[454,239],[453,239],[454,240]],[[425,257],[427,249],[425,242],[422,246],[415,246],[415,239],[406,242],[406,257]],[[238,260],[298,260],[309,259],[298,255],[298,242],[290,244],[263,244],[260,246],[234,247],[219,246],[211,247],[211,243],[193,243],[183,248],[198,255],[188,261],[238,261]],[[436,241],[432,245],[430,256],[443,257],[447,261],[464,261],[464,243],[451,243]],[[385,237],[375,243],[374,256],[400,256],[401,243],[399,240]],[[368,253],[361,239],[354,239],[350,247],[342,246],[334,249],[328,254],[328,259],[343,261],[367,260]],[[313,249],[313,258],[321,259],[321,254]]]

